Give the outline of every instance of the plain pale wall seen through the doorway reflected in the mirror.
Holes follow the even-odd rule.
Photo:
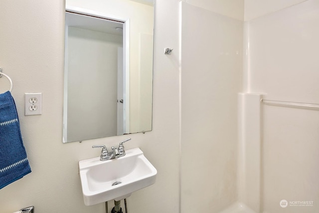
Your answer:
[[[118,47],[121,35],[68,27],[67,141],[117,135]]]

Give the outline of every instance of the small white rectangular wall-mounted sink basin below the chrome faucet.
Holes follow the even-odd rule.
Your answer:
[[[79,161],[86,206],[110,200],[120,201],[132,192],[155,183],[157,170],[143,152],[139,148],[125,152],[126,155],[118,159],[100,161],[97,157]]]

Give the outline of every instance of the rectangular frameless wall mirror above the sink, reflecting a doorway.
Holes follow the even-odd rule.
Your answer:
[[[154,4],[113,1],[66,5],[63,143],[152,130]]]

